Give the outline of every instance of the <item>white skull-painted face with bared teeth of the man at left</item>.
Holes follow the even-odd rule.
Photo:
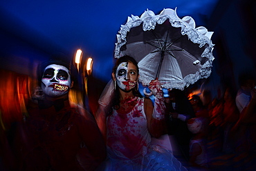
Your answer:
[[[60,97],[71,88],[69,70],[60,65],[51,64],[44,69],[42,90],[49,97]]]

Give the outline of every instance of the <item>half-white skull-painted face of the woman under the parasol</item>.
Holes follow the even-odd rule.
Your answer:
[[[116,70],[116,82],[121,90],[129,91],[136,86],[138,72],[131,62],[120,63]]]

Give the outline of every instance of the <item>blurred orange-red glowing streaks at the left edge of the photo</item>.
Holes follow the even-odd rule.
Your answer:
[[[0,74],[5,76],[0,81],[1,126],[8,130],[12,123],[21,121],[26,112],[29,78],[6,70],[0,70]]]

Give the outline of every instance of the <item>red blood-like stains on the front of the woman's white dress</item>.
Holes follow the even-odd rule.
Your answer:
[[[143,101],[138,97],[125,99],[108,118],[107,145],[117,157],[132,159],[150,141]]]

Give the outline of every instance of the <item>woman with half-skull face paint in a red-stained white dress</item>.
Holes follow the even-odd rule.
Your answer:
[[[165,105],[159,81],[149,89],[154,105],[138,96],[139,70],[129,56],[120,57],[112,72],[112,81],[99,99],[96,112],[99,128],[107,141],[108,158],[100,170],[185,170],[168,151],[152,145],[152,137],[165,134]]]

